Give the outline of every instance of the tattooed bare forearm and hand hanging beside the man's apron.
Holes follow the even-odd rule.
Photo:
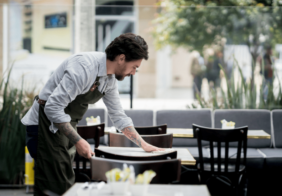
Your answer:
[[[53,123],[63,134],[76,146],[78,154],[90,159],[91,154],[95,154],[90,147],[90,144],[84,140],[76,130],[70,125],[69,122],[64,123]]]

